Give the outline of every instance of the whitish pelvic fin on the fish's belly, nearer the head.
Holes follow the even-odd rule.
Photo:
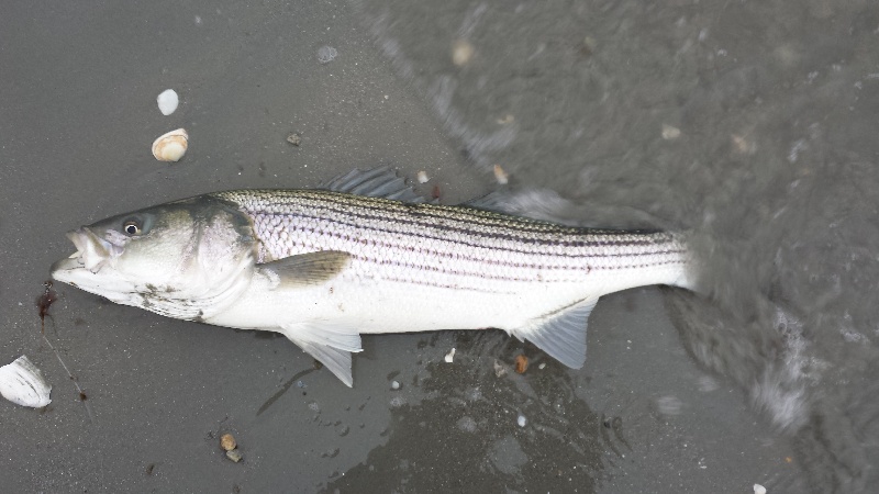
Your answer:
[[[348,388],[354,384],[351,352],[363,351],[360,335],[354,328],[312,324],[281,325],[285,336],[326,366]]]

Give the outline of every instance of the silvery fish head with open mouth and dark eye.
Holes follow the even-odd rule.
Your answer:
[[[77,250],[52,266],[52,278],[185,319],[233,302],[256,259],[249,217],[210,194],[112,216],[67,237]]]

